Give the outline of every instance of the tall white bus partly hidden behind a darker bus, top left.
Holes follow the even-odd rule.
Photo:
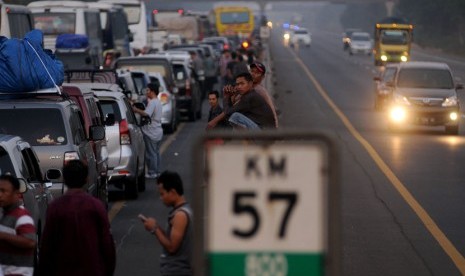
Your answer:
[[[131,48],[137,55],[141,51],[147,51],[148,45],[148,18],[145,2],[139,0],[100,0],[123,6],[128,16],[129,30],[133,33]]]

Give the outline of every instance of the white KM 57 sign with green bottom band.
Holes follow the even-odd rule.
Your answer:
[[[329,229],[338,225],[330,222],[331,146],[320,136],[281,138],[206,148],[208,178],[196,198],[203,275],[336,275],[327,265]]]

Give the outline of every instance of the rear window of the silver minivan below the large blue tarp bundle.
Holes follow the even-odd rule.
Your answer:
[[[59,146],[67,143],[63,117],[54,108],[0,110],[0,132],[21,136],[32,146]]]

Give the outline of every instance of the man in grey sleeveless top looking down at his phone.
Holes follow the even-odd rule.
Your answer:
[[[184,198],[181,177],[176,172],[165,171],[157,179],[158,191],[163,203],[172,207],[166,230],[162,230],[154,218],[141,216],[144,227],[155,235],[163,247],[160,255],[162,276],[192,275],[193,215]]]

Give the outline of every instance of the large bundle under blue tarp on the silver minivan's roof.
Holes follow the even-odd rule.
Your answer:
[[[44,51],[42,43],[39,30],[30,31],[24,39],[0,36],[0,93],[35,91],[52,88],[54,82],[63,83],[62,62],[51,51]]]

